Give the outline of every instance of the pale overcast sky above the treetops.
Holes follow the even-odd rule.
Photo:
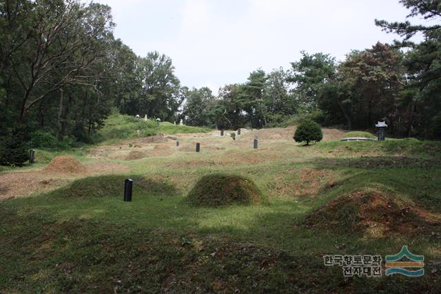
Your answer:
[[[172,58],[188,87],[243,83],[249,72],[290,67],[300,51],[341,60],[352,49],[390,43],[374,19],[402,21],[398,0],[99,0],[112,7],[114,35],[145,56]]]

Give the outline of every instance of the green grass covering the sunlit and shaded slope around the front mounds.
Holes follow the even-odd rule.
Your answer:
[[[367,189],[441,213],[440,143],[328,141],[280,150],[287,156],[256,164],[169,166],[208,162],[223,151],[134,160],[125,175],[79,178],[50,193],[0,202],[0,292],[440,291],[441,226],[370,238],[362,230],[303,225],[330,201]],[[305,178],[305,170],[325,176]],[[216,172],[250,178],[268,201],[189,205],[196,180]],[[134,180],[132,202],[123,202],[125,178]],[[296,196],[299,189],[305,195]],[[354,220],[349,211],[339,213]],[[404,244],[424,255],[423,277],[345,279],[341,267],[323,265],[325,254],[384,258]]]

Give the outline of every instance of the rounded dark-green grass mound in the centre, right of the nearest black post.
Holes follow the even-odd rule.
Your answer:
[[[203,176],[188,193],[194,206],[218,207],[229,204],[254,204],[263,200],[252,180],[243,176],[210,174]]]

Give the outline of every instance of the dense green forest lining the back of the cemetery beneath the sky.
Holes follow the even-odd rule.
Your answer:
[[[400,40],[353,50],[343,61],[326,48],[302,52],[291,68],[257,69],[214,96],[207,87],[181,85],[169,56],[137,56],[115,39],[109,6],[2,0],[0,161],[25,160],[32,141],[92,143],[115,111],[220,129],[284,126],[306,116],[321,125],[373,129],[385,120],[393,136],[440,139],[441,4],[400,3],[409,19],[430,25],[376,20]],[[413,43],[416,34],[423,41]]]

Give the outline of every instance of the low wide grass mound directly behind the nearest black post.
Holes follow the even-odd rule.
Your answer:
[[[176,187],[167,182],[157,182],[143,176],[94,176],[75,180],[68,187],[54,191],[56,195],[72,198],[114,197],[124,194],[124,180],[133,180],[133,194],[176,195]]]

